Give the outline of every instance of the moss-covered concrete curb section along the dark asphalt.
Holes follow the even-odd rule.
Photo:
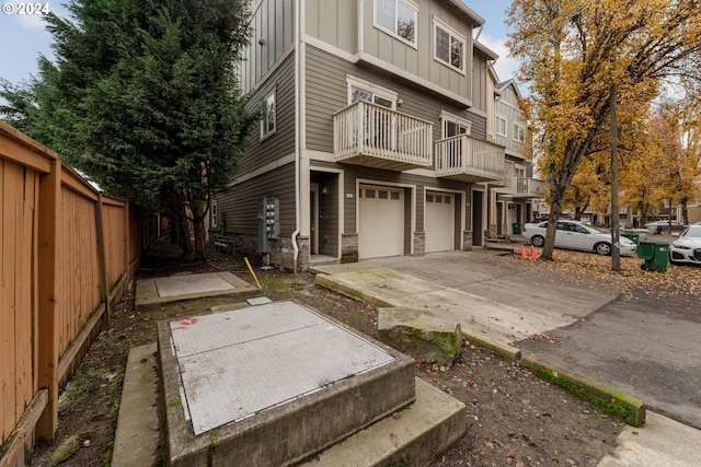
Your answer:
[[[542,380],[567,389],[602,412],[622,419],[630,425],[642,427],[645,423],[645,404],[634,397],[562,370],[533,354],[524,357],[521,366]]]

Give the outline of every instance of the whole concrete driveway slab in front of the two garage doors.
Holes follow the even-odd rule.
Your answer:
[[[429,310],[459,322],[463,330],[501,343],[576,323],[617,296],[536,279],[485,250],[376,258],[313,269],[375,297],[376,304]]]

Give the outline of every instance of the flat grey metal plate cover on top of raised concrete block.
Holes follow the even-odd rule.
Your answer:
[[[296,302],[169,323],[195,435],[394,360]]]

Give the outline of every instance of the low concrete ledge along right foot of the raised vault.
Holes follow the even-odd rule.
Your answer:
[[[416,401],[318,456],[310,467],[428,466],[467,430],[466,406],[420,378]]]

